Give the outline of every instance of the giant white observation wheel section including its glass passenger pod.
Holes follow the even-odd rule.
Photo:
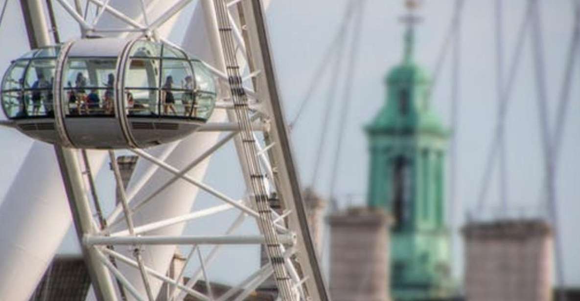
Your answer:
[[[198,1],[183,43],[169,41],[164,27],[191,2],[88,0],[83,8],[79,0],[21,1],[32,50],[3,76],[9,120],[2,124],[42,142],[32,146],[0,212],[2,226],[14,228],[2,234],[0,299],[30,297],[70,208],[97,300],[153,301],[164,284],[169,300],[244,300],[269,279],[280,300],[328,300],[278,97],[268,1]],[[79,38],[59,41],[53,5],[78,23]],[[227,179],[241,170],[242,197],[204,182],[211,156],[230,143],[239,166],[220,172]],[[126,188],[119,152],[139,156]],[[95,184],[107,161],[115,204]],[[30,181],[38,185],[23,189]],[[213,203],[197,208],[202,195]],[[185,234],[199,221],[205,226],[196,235]],[[243,223],[256,230],[238,231]],[[263,249],[268,262],[214,295],[209,266],[244,266],[252,253],[223,251],[240,245]],[[189,268],[171,278],[178,248]],[[198,280],[204,292],[194,288]]]

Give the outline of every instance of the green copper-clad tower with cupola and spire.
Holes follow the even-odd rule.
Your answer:
[[[387,74],[385,104],[365,127],[370,152],[367,201],[394,218],[394,299],[437,300],[452,291],[443,190],[448,133],[430,106],[430,79],[414,61],[417,17],[409,13],[404,20],[403,61]]]

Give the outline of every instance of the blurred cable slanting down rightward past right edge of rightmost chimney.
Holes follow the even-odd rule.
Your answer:
[[[544,164],[545,164],[545,174],[546,174],[546,191],[548,195],[549,203],[549,214],[553,227],[554,235],[554,251],[556,252],[556,282],[560,284],[561,287],[565,286],[564,270],[563,270],[563,250],[560,238],[560,227],[558,225],[558,207],[557,207],[557,197],[556,197],[556,187],[554,183],[554,156],[553,148],[550,145],[550,131],[549,131],[549,120],[548,120],[548,104],[547,104],[547,92],[546,92],[546,82],[545,82],[545,64],[544,64],[544,54],[543,54],[543,41],[542,41],[542,27],[540,20],[540,12],[538,0],[530,0],[534,4],[533,9],[533,21],[532,21],[532,52],[534,56],[535,63],[535,76],[536,76],[536,93],[538,101],[538,114],[539,114],[539,125],[540,134],[542,138],[542,146],[544,153]],[[565,301],[566,295],[564,290],[559,291],[559,300]]]

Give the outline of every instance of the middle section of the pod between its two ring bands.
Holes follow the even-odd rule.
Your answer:
[[[99,49],[99,45],[107,42],[108,45]],[[64,125],[74,146],[128,147],[115,113],[118,54],[124,46],[120,42],[122,40],[79,40],[64,61],[61,107]]]

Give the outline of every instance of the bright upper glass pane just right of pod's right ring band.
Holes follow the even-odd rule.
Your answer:
[[[157,88],[159,86],[159,60],[133,58],[125,76],[125,87]]]

